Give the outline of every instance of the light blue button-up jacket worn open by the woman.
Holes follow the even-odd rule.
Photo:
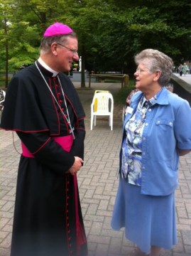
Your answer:
[[[131,98],[133,111],[126,114],[126,122],[136,111],[143,92]],[[141,193],[166,196],[178,186],[179,149],[191,149],[191,109],[187,100],[163,87],[156,104],[146,113],[142,142]],[[125,129],[123,132],[123,139]],[[121,171],[121,151],[120,170]]]

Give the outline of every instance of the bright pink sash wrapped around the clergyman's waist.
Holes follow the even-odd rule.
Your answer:
[[[62,146],[62,149],[64,149],[67,152],[70,152],[70,149],[71,149],[72,143],[73,143],[72,134],[63,136],[63,137],[52,137],[52,139],[55,142],[57,142],[60,146]],[[27,149],[25,144],[23,144],[23,142],[21,142],[21,147],[22,147],[22,151],[23,151],[23,156],[32,157],[32,158],[34,157],[33,154],[31,154],[31,152]]]

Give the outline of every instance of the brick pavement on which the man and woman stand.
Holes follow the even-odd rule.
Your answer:
[[[78,174],[84,225],[89,245],[89,256],[123,256],[133,248],[124,238],[124,230],[111,230],[111,214],[118,187],[119,149],[121,144],[121,107],[114,106],[114,129],[110,130],[106,118],[97,119],[97,127],[90,131],[90,104],[94,90],[118,90],[121,84],[92,83],[91,89],[78,89],[84,110],[87,136],[84,166]],[[87,85],[88,86],[88,85]],[[12,132],[0,131],[0,256],[9,256],[11,228],[16,190],[19,154],[13,146]],[[14,142],[21,152],[16,134]],[[180,183],[176,191],[178,217],[178,245],[161,256],[191,255],[191,154],[180,158]],[[19,255],[18,255],[19,256]]]

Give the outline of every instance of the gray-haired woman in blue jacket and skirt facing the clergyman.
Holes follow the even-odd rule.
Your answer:
[[[124,119],[119,189],[111,227],[125,228],[137,247],[129,255],[158,256],[177,243],[178,161],[191,151],[191,109],[169,92],[173,61],[158,50],[135,57],[136,88]],[[183,129],[182,129],[183,127]]]

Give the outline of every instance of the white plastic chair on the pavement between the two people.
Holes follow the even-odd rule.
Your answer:
[[[109,126],[113,129],[114,98],[110,92],[97,92],[91,104],[91,130],[96,126],[97,116],[109,116]]]

